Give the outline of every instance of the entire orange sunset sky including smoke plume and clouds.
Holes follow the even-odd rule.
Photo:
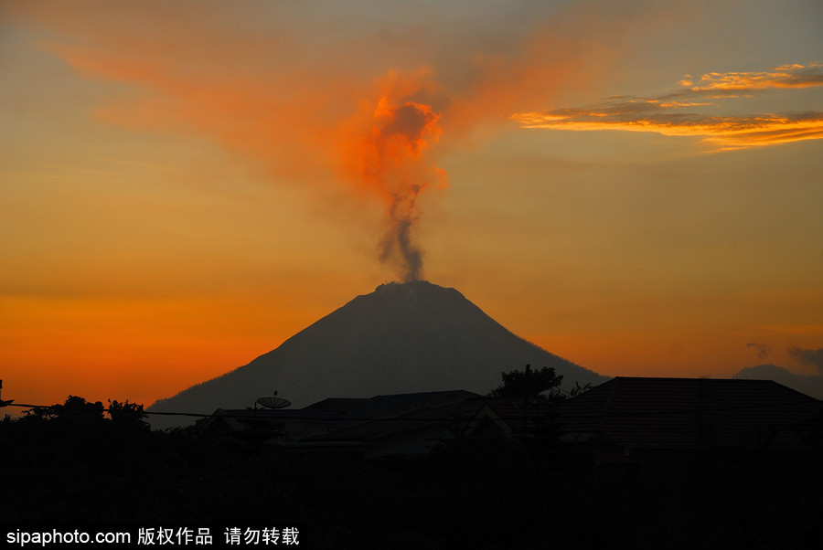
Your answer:
[[[0,121],[18,402],[148,405],[415,277],[604,375],[823,348],[818,0],[0,0]]]

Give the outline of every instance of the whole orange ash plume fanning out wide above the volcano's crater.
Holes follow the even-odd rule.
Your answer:
[[[460,28],[423,31],[431,26],[397,21],[387,34],[363,14],[350,16],[347,28],[312,8],[238,4],[85,0],[5,8],[10,19],[47,28],[44,46],[84,77],[132,87],[96,112],[102,121],[197,132],[262,162],[278,182],[379,200],[390,227],[379,257],[404,279],[421,275],[412,228],[417,197],[445,181],[439,154],[561,87],[602,78],[599,69],[616,55],[604,44],[641,25],[638,14],[649,11],[638,5],[615,16],[599,3],[549,6],[543,19],[532,9],[507,11],[516,22],[489,30],[489,41],[487,33]],[[418,116],[422,142],[399,141],[408,128],[392,133],[399,124],[392,117]],[[435,147],[439,132],[444,139]]]

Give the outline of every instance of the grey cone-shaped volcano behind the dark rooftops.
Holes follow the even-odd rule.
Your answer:
[[[510,333],[459,291],[423,280],[392,282],[349,301],[248,365],[148,410],[211,413],[218,407],[251,407],[275,390],[293,407],[326,397],[451,389],[485,395],[500,385],[501,372],[525,365],[554,368],[566,388],[607,379]],[[157,418],[153,424],[164,423]]]

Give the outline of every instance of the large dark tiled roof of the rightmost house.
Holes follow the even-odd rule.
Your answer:
[[[770,380],[616,377],[567,400],[560,422],[626,447],[802,446],[820,402]]]

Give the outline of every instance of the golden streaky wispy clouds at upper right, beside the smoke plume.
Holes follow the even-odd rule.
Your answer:
[[[751,96],[764,90],[823,86],[823,64],[786,65],[764,72],[709,73],[696,83],[686,75],[679,84],[685,88],[662,96],[615,96],[591,107],[520,112],[511,118],[525,128],[700,137],[715,151],[823,138],[823,111],[752,115],[692,111],[716,107],[718,99]]]

